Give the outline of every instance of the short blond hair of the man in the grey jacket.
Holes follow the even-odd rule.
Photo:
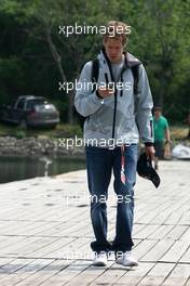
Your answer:
[[[128,34],[131,32],[131,26],[120,21],[109,21],[106,25],[106,34],[104,35],[104,41],[108,38],[121,40],[124,46],[127,41]]]

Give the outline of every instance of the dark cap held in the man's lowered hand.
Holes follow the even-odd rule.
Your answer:
[[[160,177],[152,167],[152,161],[147,157],[146,153],[142,153],[137,161],[137,173],[154,184],[155,187],[160,185]]]

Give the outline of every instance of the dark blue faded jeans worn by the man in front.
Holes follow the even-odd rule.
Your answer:
[[[134,218],[134,191],[136,182],[137,144],[124,147],[125,184],[121,181],[121,147],[114,150],[86,146],[87,182],[91,193],[91,219],[95,242],[91,243],[93,251],[110,250],[130,251],[132,249],[132,227]],[[112,245],[107,240],[108,186],[111,172],[114,174],[117,194],[117,225]],[[104,199],[105,198],[105,199]]]

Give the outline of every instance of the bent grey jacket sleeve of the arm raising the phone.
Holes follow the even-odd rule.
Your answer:
[[[104,100],[96,95],[96,90],[93,92],[91,74],[92,62],[87,62],[81,72],[76,88],[74,106],[77,112],[84,117],[93,115],[104,104]]]

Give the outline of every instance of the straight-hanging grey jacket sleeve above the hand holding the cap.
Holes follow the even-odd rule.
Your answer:
[[[152,145],[153,122],[151,109],[153,107],[153,101],[147,73],[142,65],[139,66],[138,91],[139,94],[137,103],[137,125],[139,129],[140,140],[146,145]]]

